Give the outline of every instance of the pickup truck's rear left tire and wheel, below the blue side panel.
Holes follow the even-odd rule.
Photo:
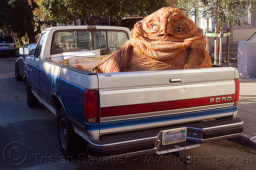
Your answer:
[[[58,115],[58,138],[62,155],[65,158],[74,156],[76,150],[76,133],[63,108],[60,108]]]

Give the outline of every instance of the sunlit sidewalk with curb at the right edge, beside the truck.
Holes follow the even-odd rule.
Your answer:
[[[237,117],[244,121],[241,137],[232,138],[247,147],[256,149],[256,79],[240,77],[240,99]]]

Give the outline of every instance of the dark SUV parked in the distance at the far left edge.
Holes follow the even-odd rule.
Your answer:
[[[15,43],[10,35],[0,35],[0,54],[16,56]]]

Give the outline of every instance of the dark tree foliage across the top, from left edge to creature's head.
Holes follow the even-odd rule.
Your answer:
[[[56,23],[72,23],[81,19],[88,25],[110,17],[120,21],[126,15],[146,16],[161,7],[168,6],[166,0],[0,0],[0,28],[26,33],[29,43],[36,42],[35,36],[41,27],[56,26]]]

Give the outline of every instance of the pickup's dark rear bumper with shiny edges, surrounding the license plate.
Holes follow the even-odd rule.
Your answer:
[[[162,146],[162,131],[175,128],[187,128],[186,141]],[[102,136],[101,140],[89,140],[88,154],[96,157],[164,154],[195,148],[199,143],[238,137],[241,136],[243,129],[242,119],[220,118],[207,122],[112,134]]]

